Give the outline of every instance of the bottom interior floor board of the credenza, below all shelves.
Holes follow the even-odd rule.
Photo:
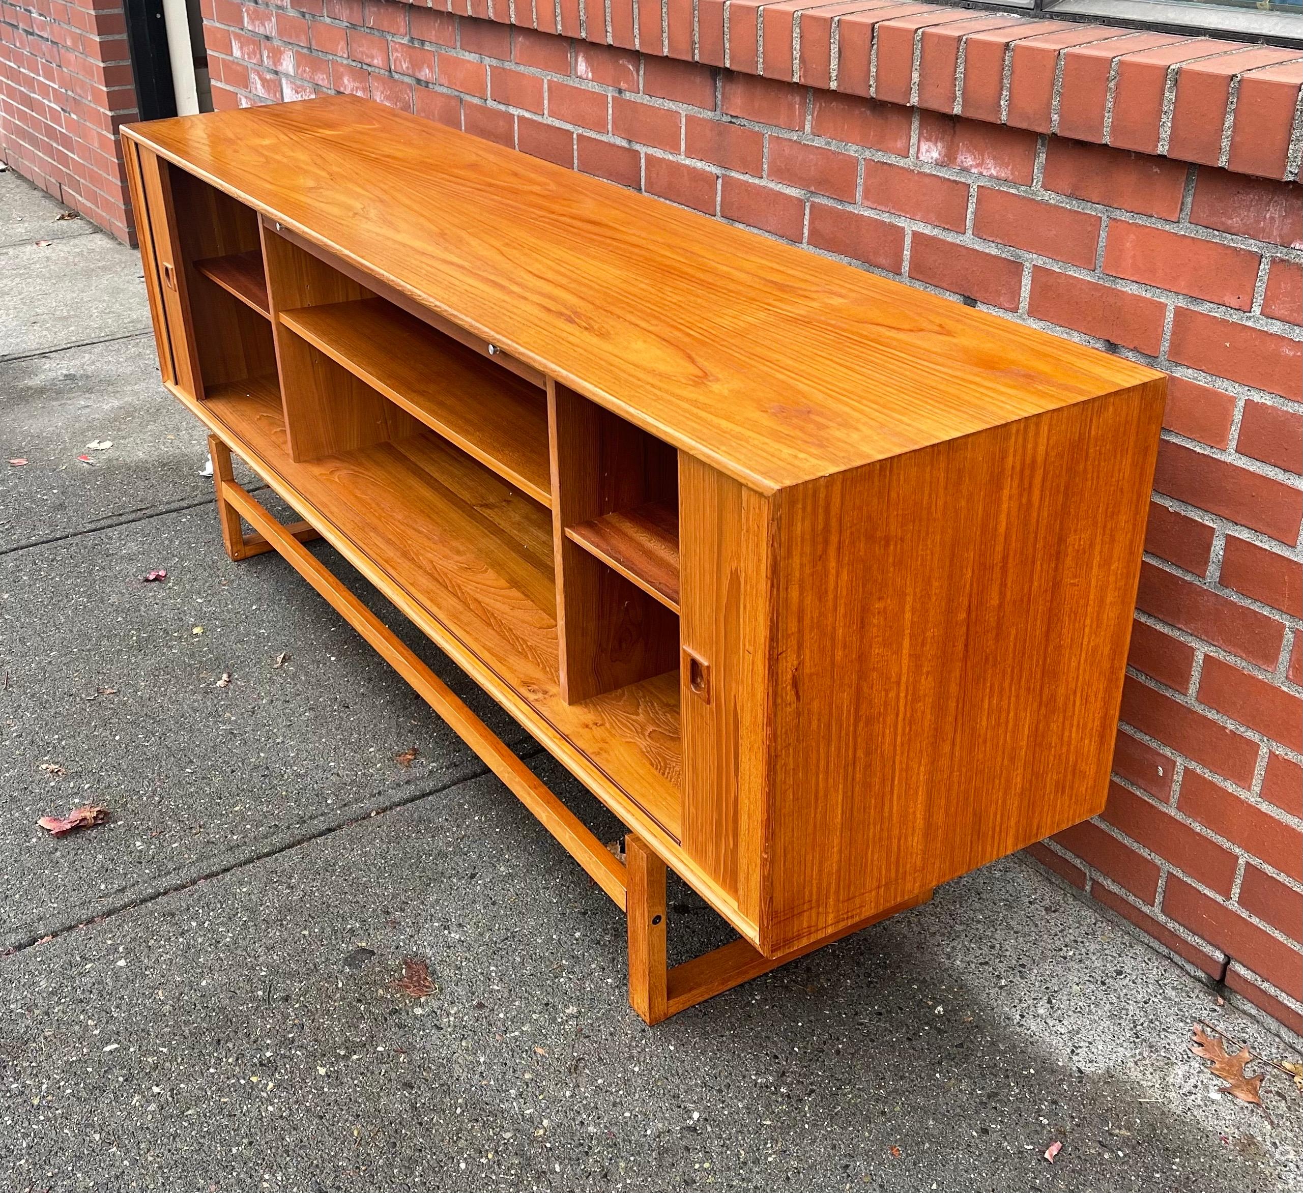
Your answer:
[[[399,589],[573,742],[676,840],[679,676],[567,705],[558,682],[551,517],[430,432],[289,458],[275,378],[208,388],[206,412],[353,544],[380,591]],[[306,511],[305,511],[306,512]],[[328,537],[328,535],[327,535]],[[508,707],[511,707],[508,705]]]

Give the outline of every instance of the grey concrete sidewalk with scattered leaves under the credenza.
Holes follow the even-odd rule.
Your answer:
[[[60,211],[0,173],[0,1193],[1303,1188],[1303,1094],[1187,1050],[1287,1045],[1012,860],[648,1029],[610,901],[287,564],[225,557],[139,259]],[[672,900],[676,953],[727,939]]]

